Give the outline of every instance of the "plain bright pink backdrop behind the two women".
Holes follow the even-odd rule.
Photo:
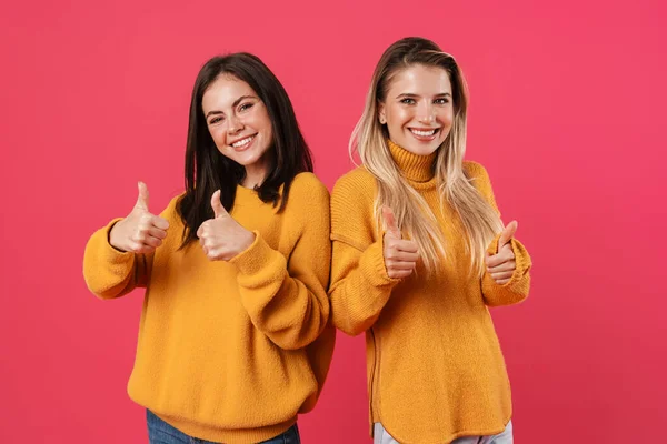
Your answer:
[[[419,34],[471,90],[484,163],[534,261],[494,311],[516,441],[644,443],[667,422],[663,2],[6,2],[0,13],[0,442],[142,443],[126,394],[141,292],[88,293],[83,245],[136,182],[182,189],[190,91],[211,56],[257,53],[330,188],[372,69]],[[613,4],[610,4],[613,3]],[[663,41],[663,43],[659,43]],[[368,443],[361,337],[338,335],[306,443]]]

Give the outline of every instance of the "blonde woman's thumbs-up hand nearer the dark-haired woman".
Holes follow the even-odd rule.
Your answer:
[[[407,278],[412,274],[417,266],[417,260],[419,259],[417,243],[401,239],[394,211],[389,206],[382,206],[382,219],[387,226],[382,251],[387,275],[392,279]]]

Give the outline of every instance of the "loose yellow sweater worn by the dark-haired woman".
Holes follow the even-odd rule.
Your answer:
[[[117,220],[86,248],[83,274],[99,297],[147,287],[128,393],[189,435],[268,440],[315,406],[331,361],[329,192],[301,173],[277,213],[238,186],[230,214],[257,236],[230,262],[209,261],[198,243],[178,251],[177,201],[161,214],[170,228],[155,254],[110,246]]]

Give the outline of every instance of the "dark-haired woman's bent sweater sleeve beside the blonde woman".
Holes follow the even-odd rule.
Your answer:
[[[255,232],[252,245],[230,261],[252,324],[285,350],[313,342],[329,320],[329,192],[307,176],[295,181],[289,194],[290,213],[299,220],[285,221],[283,229],[299,233],[288,258]]]

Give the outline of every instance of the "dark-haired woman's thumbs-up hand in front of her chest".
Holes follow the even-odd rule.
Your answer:
[[[242,228],[225,210],[220,202],[220,190],[211,198],[213,219],[203,222],[197,236],[203,252],[211,261],[229,261],[255,242],[255,233]]]

